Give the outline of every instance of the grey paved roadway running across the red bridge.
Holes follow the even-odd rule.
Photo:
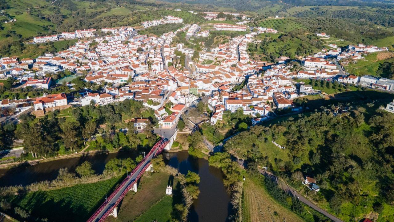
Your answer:
[[[149,156],[146,156],[143,164],[141,164],[141,166],[139,167],[138,170],[136,170],[132,175],[129,176],[128,181],[122,186],[122,188],[119,190],[119,192],[117,192],[117,194],[115,194],[111,199],[107,200],[106,206],[100,211],[100,213],[94,218],[94,220],[92,221],[99,221],[100,218],[103,217],[103,215],[107,212],[110,211],[110,209],[116,205],[117,200],[120,198],[121,194],[123,192],[125,192],[125,190],[127,189],[127,187],[132,184],[133,182],[136,182],[136,179],[138,179],[138,174],[144,169],[145,166],[149,165],[152,158],[154,157],[154,154],[157,152],[157,150],[159,149],[159,147],[157,147],[155,149],[154,152],[152,152]]]

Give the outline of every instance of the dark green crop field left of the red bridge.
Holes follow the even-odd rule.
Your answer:
[[[110,194],[119,182],[121,178],[114,177],[58,190],[28,192],[9,200],[15,206],[32,211],[34,216],[48,218],[48,221],[85,221],[104,201],[105,194]]]

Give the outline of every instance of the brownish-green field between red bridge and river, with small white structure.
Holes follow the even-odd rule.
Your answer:
[[[106,221],[167,221],[171,219],[172,196],[165,195],[169,179],[168,173],[145,173],[138,184],[136,193],[129,192],[118,209],[118,218]],[[176,184],[177,180],[174,180]],[[175,186],[174,186],[175,187]]]

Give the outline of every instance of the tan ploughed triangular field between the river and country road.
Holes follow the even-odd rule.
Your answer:
[[[244,185],[245,214],[253,222],[302,222],[296,214],[277,204],[256,181],[248,177]],[[275,213],[276,212],[276,213]],[[246,220],[245,220],[246,221]]]

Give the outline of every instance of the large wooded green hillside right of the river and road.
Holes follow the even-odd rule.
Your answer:
[[[388,141],[394,137],[390,124],[394,115],[377,109],[392,96],[377,100],[378,95],[372,94],[381,93],[364,91],[361,101],[342,103],[339,108],[323,106],[316,113],[288,117],[269,127],[253,126],[227,141],[224,148],[247,160],[251,171],[267,166],[344,221],[371,212],[379,214],[377,221],[393,220],[394,175]],[[277,148],[272,140],[286,149]],[[310,192],[301,184],[305,176],[317,179],[320,192]]]

